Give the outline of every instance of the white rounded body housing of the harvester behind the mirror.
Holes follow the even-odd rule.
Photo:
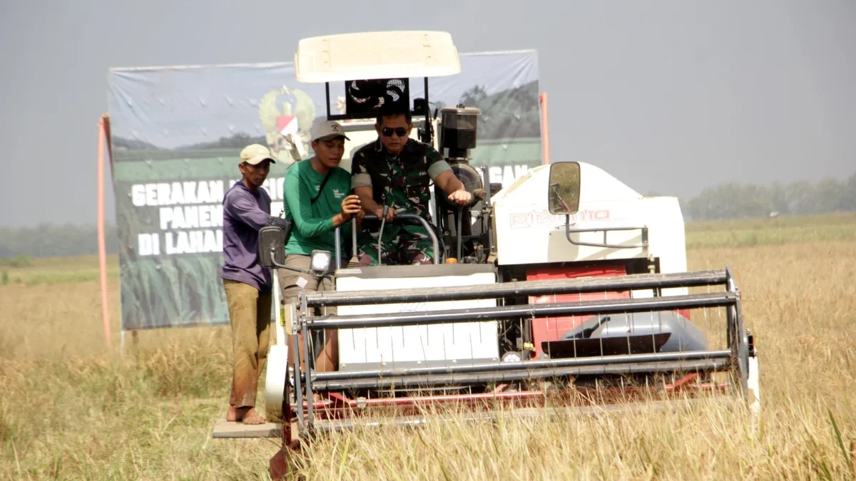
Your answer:
[[[649,258],[658,272],[687,270],[684,219],[675,197],[645,197],[591,163],[580,162],[580,208],[570,214],[571,229],[603,229],[572,233],[566,216],[550,214],[550,166],[529,169],[493,197],[496,263],[536,265]],[[630,229],[630,230],[609,230]],[[686,294],[686,288],[663,294]],[[651,295],[639,291],[636,296]]]

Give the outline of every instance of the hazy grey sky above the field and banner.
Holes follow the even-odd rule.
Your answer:
[[[552,159],[642,193],[856,172],[853,0],[0,0],[0,226],[94,222],[107,68],[290,62],[304,37],[393,29],[538,50]]]

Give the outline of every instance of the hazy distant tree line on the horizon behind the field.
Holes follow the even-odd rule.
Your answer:
[[[846,179],[817,183],[776,182],[770,186],[728,182],[681,199],[688,221],[826,214],[856,211],[856,173]],[[94,225],[0,228],[0,258],[80,256],[98,253]],[[118,252],[116,226],[105,230],[107,252]]]

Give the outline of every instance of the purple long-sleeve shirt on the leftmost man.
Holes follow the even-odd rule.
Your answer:
[[[270,292],[270,270],[259,264],[259,229],[270,217],[270,196],[264,188],[255,193],[235,182],[223,198],[223,279],[245,282]]]

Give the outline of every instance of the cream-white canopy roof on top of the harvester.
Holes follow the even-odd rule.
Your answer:
[[[342,33],[300,40],[294,69],[308,83],[401,79],[460,74],[461,60],[446,32]]]

